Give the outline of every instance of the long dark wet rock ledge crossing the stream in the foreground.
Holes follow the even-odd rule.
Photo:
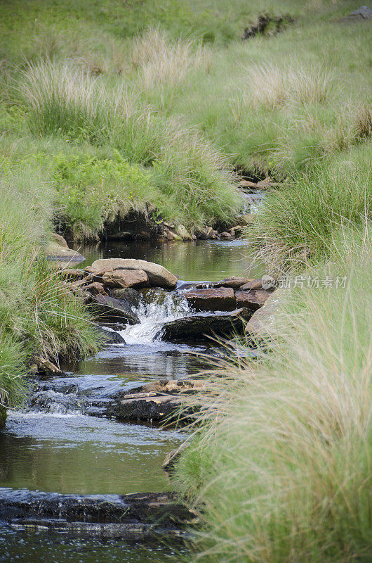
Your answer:
[[[194,514],[175,493],[62,495],[7,488],[0,493],[0,516],[15,526],[27,527],[31,519],[44,529],[125,537],[174,531],[190,524]]]

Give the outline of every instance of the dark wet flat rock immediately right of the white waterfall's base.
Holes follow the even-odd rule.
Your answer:
[[[225,313],[192,315],[166,322],[161,331],[168,340],[225,334],[232,330],[241,330],[244,320],[248,320],[250,316],[251,311],[245,308]]]

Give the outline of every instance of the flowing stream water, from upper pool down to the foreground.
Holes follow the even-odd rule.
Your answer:
[[[157,262],[178,274],[180,285],[262,274],[252,266],[248,246],[242,241],[110,243],[79,250],[86,256],[85,265],[98,258]],[[100,398],[102,402],[118,389],[130,390],[157,379],[190,377],[203,367],[198,355],[210,351],[207,344],[174,344],[159,336],[162,321],[190,312],[177,292],[150,290],[137,312],[140,324],[121,332],[126,345],[107,346],[94,358],[71,366],[65,377],[53,381],[53,391],[48,393],[58,398],[72,386],[89,400]],[[9,412],[6,428],[0,432],[0,500],[1,495],[11,495],[16,489],[79,495],[169,490],[161,463],[166,453],[185,440],[185,430],[128,424],[86,412],[79,404],[63,411],[40,407],[32,412]],[[144,563],[168,557],[176,562],[182,549],[179,543],[133,544],[14,531],[5,524],[0,527],[0,562]]]

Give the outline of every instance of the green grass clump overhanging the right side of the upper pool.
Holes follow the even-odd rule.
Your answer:
[[[327,258],[341,227],[371,219],[372,144],[328,158],[267,194],[247,229],[253,251],[272,268],[301,270]]]

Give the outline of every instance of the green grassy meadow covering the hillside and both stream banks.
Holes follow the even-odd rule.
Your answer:
[[[267,271],[346,277],[281,292],[270,353],[212,366],[175,474],[203,507],[193,561],[372,557],[371,20],[343,20],[359,6],[0,0],[2,405],[35,351],[97,346],[40,260],[53,229],[233,224],[237,181],[272,177],[245,233]],[[263,13],[279,32],[242,41]]]

